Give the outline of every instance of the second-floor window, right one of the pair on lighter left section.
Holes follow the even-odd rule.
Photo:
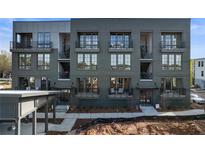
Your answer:
[[[50,54],[38,54],[38,69],[48,70],[50,68]]]

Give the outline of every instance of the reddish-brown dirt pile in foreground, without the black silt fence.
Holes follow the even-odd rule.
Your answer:
[[[80,135],[199,135],[205,134],[205,120],[140,120],[99,123]]]

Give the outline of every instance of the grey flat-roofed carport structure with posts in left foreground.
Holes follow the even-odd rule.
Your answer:
[[[55,121],[55,106],[59,91],[0,91],[0,121],[15,121],[16,135],[21,134],[21,119],[32,113],[32,134],[36,135],[37,109],[45,108],[45,132],[48,132],[48,106],[53,105],[53,120]]]

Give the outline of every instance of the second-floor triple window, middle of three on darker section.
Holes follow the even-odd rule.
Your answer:
[[[130,70],[130,54],[111,54],[111,68],[118,70]]]

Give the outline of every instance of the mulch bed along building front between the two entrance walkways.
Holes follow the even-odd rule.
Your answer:
[[[67,113],[113,113],[113,112],[141,112],[136,108],[110,108],[110,107],[70,107]]]

